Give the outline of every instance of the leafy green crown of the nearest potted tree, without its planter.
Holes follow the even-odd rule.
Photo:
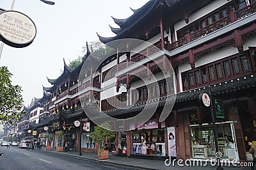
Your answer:
[[[106,144],[107,139],[111,139],[115,137],[115,132],[111,130],[111,127],[108,123],[102,123],[100,126],[96,126],[94,128],[94,132],[92,132],[93,141],[95,143],[99,143],[101,150],[104,150],[104,146]]]

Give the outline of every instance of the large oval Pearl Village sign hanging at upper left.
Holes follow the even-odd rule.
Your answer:
[[[36,36],[36,26],[27,15],[16,11],[0,13],[0,40],[16,48],[27,47]]]

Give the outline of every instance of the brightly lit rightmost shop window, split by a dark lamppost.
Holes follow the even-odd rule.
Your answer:
[[[216,123],[216,134],[218,140],[218,151],[222,153],[223,158],[238,159],[234,123]],[[191,125],[190,137],[192,157],[216,158],[214,133],[212,131],[211,124],[205,124],[202,126]]]

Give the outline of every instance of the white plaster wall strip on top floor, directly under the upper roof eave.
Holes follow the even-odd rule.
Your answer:
[[[225,0],[216,0],[213,1],[210,4],[207,4],[204,8],[198,10],[197,12],[193,13],[192,15],[189,16],[189,23],[186,24],[185,20],[180,20],[180,22],[177,22],[174,24],[174,30],[175,30],[175,38],[177,40],[177,30],[181,29],[182,27],[188,26],[195,20],[200,19],[201,17],[204,17],[207,13],[211,13],[212,11],[216,10],[217,8],[220,8],[224,4],[229,3],[229,1]]]

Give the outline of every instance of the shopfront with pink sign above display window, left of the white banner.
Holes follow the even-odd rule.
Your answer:
[[[138,130],[133,131],[132,151],[134,155],[165,157],[165,123],[162,122],[160,127],[157,120],[149,120]]]

